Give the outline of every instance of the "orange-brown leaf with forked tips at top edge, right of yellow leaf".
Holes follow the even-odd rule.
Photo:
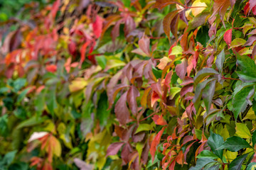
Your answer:
[[[230,0],[216,0],[213,4],[213,14],[210,16],[209,21],[210,24],[213,24],[215,21],[215,15],[219,13],[221,21],[224,20],[225,12],[228,9],[228,6],[230,6]],[[223,23],[224,25],[224,23]]]

